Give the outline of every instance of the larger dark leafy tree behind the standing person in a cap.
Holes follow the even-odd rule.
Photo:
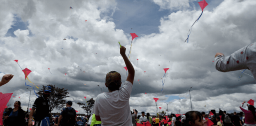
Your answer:
[[[58,87],[55,87],[55,85],[49,84],[47,86],[51,87],[51,95],[50,97],[48,97],[50,112],[53,109],[62,110],[62,108],[64,108],[64,106],[66,105],[66,100],[64,100],[64,98],[69,97],[68,96],[69,92],[67,91],[67,89],[58,88]],[[43,94],[43,90],[45,86],[42,86],[42,87],[43,88],[36,93],[39,96],[42,96]]]

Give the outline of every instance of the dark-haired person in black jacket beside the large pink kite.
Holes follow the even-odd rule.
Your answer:
[[[24,126],[25,125],[25,114],[21,109],[20,102],[14,103],[14,109],[11,110],[10,114],[5,117],[8,122],[7,126]]]

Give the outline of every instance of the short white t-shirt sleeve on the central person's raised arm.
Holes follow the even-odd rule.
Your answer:
[[[132,83],[129,81],[125,81],[123,87],[120,89],[120,95],[124,100],[129,100],[132,92]]]

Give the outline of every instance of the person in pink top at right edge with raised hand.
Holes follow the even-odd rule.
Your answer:
[[[242,104],[242,107],[244,106],[245,101]],[[250,105],[248,107],[248,110],[243,109],[240,106],[240,109],[245,113],[245,126],[256,126],[256,115],[255,115],[255,107]]]

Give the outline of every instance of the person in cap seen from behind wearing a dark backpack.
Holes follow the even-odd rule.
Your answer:
[[[57,126],[74,126],[75,125],[76,112],[75,112],[75,109],[71,107],[72,104],[73,103],[71,101],[66,102],[66,108],[62,109]]]

